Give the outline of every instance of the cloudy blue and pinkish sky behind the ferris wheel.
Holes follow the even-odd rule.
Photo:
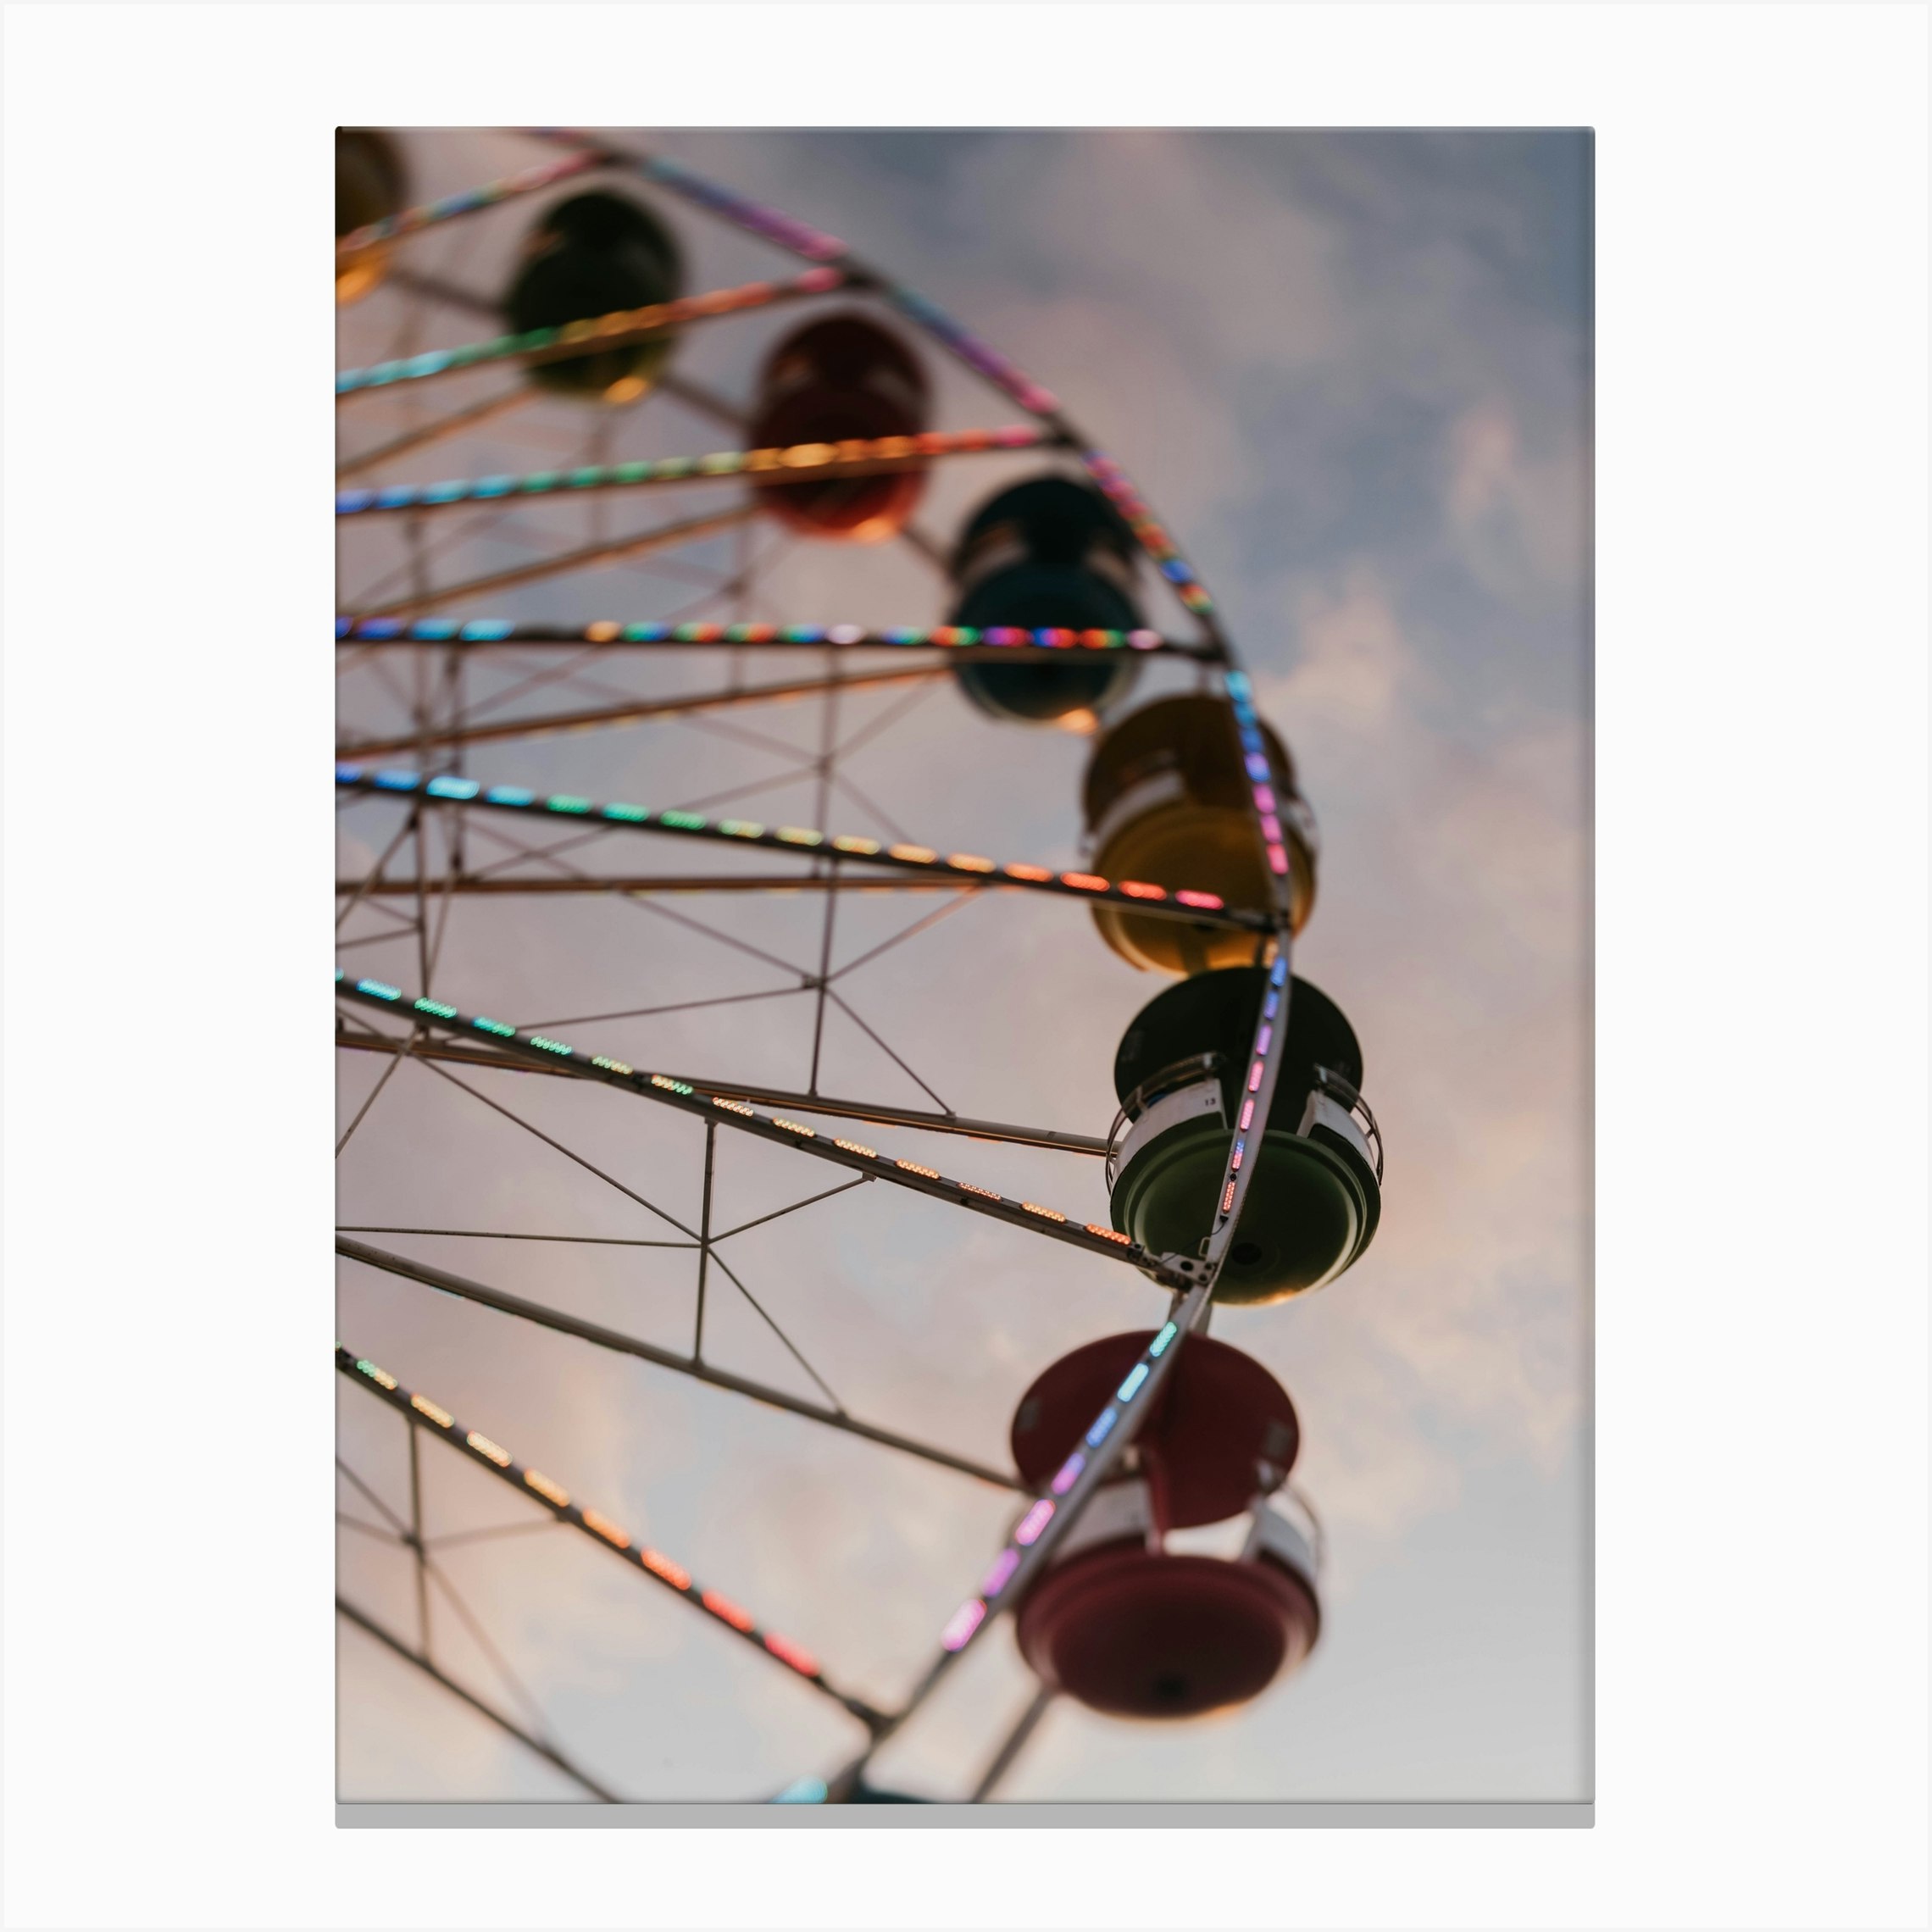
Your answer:
[[[1548,133],[674,131],[636,137],[844,240],[929,294],[1063,396],[1134,475],[1213,587],[1287,738],[1321,827],[1321,883],[1296,972],[1349,1014],[1387,1146],[1374,1246],[1296,1304],[1215,1316],[1265,1362],[1302,1420],[1296,1484],[1329,1542],[1323,1634],[1302,1671],[1238,1714],[1122,1725],[1057,1706],[1003,1785],[1009,1799],[1590,1797],[1590,149]],[[510,172],[510,135],[406,133],[421,195]],[[410,263],[500,292],[545,197],[450,224]],[[763,245],[659,203],[692,288],[782,272]],[[796,315],[694,330],[674,373],[748,396]],[[342,315],[344,363],[469,340],[481,317],[384,288]],[[935,352],[935,421],[1012,406]],[[498,379],[442,386],[425,412]],[[344,446],[394,435],[390,398],[344,408]],[[549,468],[570,452],[697,452],[730,433],[670,398],[599,431],[562,402],[379,471],[384,481]],[[918,524],[945,541],[1037,458],[935,471]],[[717,497],[564,504],[452,541],[437,582],[696,512]],[[464,520],[468,527],[468,520]],[[456,533],[437,524],[433,543]],[[342,587],[371,601],[406,562],[394,529],[346,529]],[[757,562],[746,616],[920,624],[945,585],[904,545],[782,547],[767,531],[694,547],[670,568],[580,574],[456,605],[464,614],[649,618]],[[676,576],[672,572],[682,572]],[[713,576],[705,576],[713,572]],[[723,607],[721,607],[723,609]],[[1179,622],[1148,595],[1150,616]],[[554,668],[554,667],[553,667]],[[473,672],[471,696],[526,672]],[[359,661],[344,736],[390,730],[408,667]],[[769,655],[748,682],[800,672]],[[384,678],[394,676],[394,684]],[[612,692],[703,692],[690,657],[599,663],[585,684],[510,696],[537,715]],[[1182,688],[1146,674],[1140,696]],[[893,713],[912,699],[900,717]],[[829,829],[881,825],[943,848],[1078,860],[1088,742],[999,726],[945,684],[842,703],[881,721],[850,761]],[[765,744],[732,736],[750,728]],[[815,705],[728,723],[645,724],[477,748],[483,779],[692,802],[784,769],[815,746]],[[813,823],[792,782],[746,806]],[[344,811],[342,871],[365,869],[394,813]],[[502,831],[495,827],[495,831]],[[522,837],[522,827],[510,825]],[[471,864],[506,856],[481,819]],[[663,842],[605,840],[587,867],[676,869]],[[925,898],[846,898],[835,962],[858,958]],[[784,974],[740,945],[808,964],[810,896],[454,902],[435,991],[520,1024],[717,1078],[802,1086],[810,1001],[582,1020],[724,993]],[[357,912],[346,935],[377,933]],[[417,989],[413,941],[342,954]],[[1165,981],[1101,945],[1076,906],[995,896],[854,970],[866,1022],[960,1113],[1101,1134],[1121,1032]],[[375,1055],[342,1055],[344,1124]],[[694,1211],[701,1136],[620,1095],[464,1072],[583,1159],[674,1213]],[[821,1082],[922,1105],[906,1076],[835,1014]],[[533,1092],[535,1090],[535,1092]],[[728,1136],[726,1136],[728,1138]],[[887,1151],[1105,1219],[1099,1167],[898,1130]],[[937,1153],[933,1150],[939,1150]],[[798,1169],[804,1169],[800,1173]],[[724,1148],[719,1213],[753,1219],[817,1192],[823,1169]],[[651,1217],[603,1180],[404,1066],[338,1161],[348,1225],[566,1231],[647,1238]],[[1032,1378],[1101,1333],[1151,1325],[1165,1294],[1126,1269],[867,1186],[736,1238],[748,1289],[848,1406],[987,1461]],[[661,1231],[661,1223],[659,1223]],[[667,1347],[692,1327],[692,1262],[645,1248],[369,1235]],[[854,1443],[670,1372],[533,1331],[346,1264],[338,1333],[404,1383],[566,1482],[761,1619],[817,1650],[879,1704],[931,1658],[939,1627],[999,1546],[1010,1503],[964,1478]],[[748,1304],[713,1296],[707,1354],[811,1393]],[[535,1520],[500,1484],[423,1445],[431,1534]],[[340,1453],[392,1507],[408,1497],[404,1428],[340,1393]],[[348,1486],[340,1507],[377,1520]],[[587,1538],[533,1530],[440,1557],[464,1604],[566,1748],[624,1795],[753,1799],[825,1772],[858,1727]],[[340,1586],[413,1634],[408,1557],[344,1528]],[[514,1708],[458,1613],[431,1609],[452,1675]],[[881,1752],[883,1781],[960,1797],[1030,1685],[999,1627]],[[340,1640],[344,1799],[568,1797],[570,1787],[355,1631]]]

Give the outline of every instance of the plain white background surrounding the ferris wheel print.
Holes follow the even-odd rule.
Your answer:
[[[8,1922],[1924,1922],[1924,73],[1922,8],[10,10]],[[336,1832],[298,240],[437,120],[1596,128],[1594,1832]]]

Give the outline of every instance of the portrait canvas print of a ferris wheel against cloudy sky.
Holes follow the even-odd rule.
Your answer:
[[[334,141],[340,1801],[1586,1804],[1590,135]]]

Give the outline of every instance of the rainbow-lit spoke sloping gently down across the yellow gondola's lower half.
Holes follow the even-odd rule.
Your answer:
[[[684,838],[711,838],[728,844],[759,846],[767,852],[813,852],[838,856],[862,866],[883,866],[896,871],[941,873],[954,879],[1012,885],[1024,891],[1057,893],[1068,898],[1130,906],[1136,912],[1161,910],[1177,918],[1213,925],[1238,925],[1265,933],[1273,920],[1265,912],[1244,912],[1223,904],[1213,893],[1188,887],[1169,891],[1140,879],[1101,879],[1092,871],[1051,871],[1014,860],[1001,866],[978,852],[939,852],[933,846],[885,844],[879,838],[831,835],[806,825],[763,825],[757,819],[709,819],[697,811],[653,811],[645,806],[593,804],[574,792],[539,796],[522,784],[483,784],[477,779],[423,779],[415,771],[371,771],[367,765],[336,765],[338,792],[417,792],[450,804],[487,806],[497,811],[522,811],[537,817],[601,819],[618,831],[670,833]]]

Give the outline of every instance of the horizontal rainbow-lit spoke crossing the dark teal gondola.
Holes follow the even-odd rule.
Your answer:
[[[811,649],[869,651],[1142,651],[1200,659],[1209,655],[1198,643],[1163,638],[1157,630],[1018,630],[960,624],[916,624],[867,630],[864,624],[524,624],[514,618],[425,616],[338,616],[336,643],[560,643],[560,645],[639,645],[684,649],[688,645],[750,643],[767,649],[790,645]]]

